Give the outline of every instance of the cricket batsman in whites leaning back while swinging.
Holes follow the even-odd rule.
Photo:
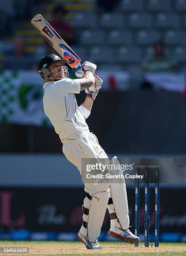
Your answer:
[[[98,139],[90,133],[86,118],[103,80],[95,75],[96,65],[85,61],[75,73],[78,79],[68,78],[65,59],[55,54],[44,56],[39,63],[39,73],[44,79],[43,108],[63,143],[66,158],[77,166],[80,174],[81,159],[108,159]],[[85,90],[86,97],[78,106],[76,93]],[[103,110],[102,110],[103,111]],[[108,162],[119,164],[116,156]],[[87,249],[102,249],[98,243],[106,208],[111,218],[110,236],[127,243],[138,243],[139,238],[128,229],[128,202],[123,182],[85,183],[87,195],[83,201],[83,224],[78,239]]]

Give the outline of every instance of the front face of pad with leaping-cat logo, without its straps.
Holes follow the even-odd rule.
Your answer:
[[[90,242],[96,241],[100,235],[109,195],[110,189],[106,192],[98,192],[94,194],[91,200],[88,217],[88,240]]]

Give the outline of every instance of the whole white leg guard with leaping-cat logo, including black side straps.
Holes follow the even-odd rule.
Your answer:
[[[106,192],[97,192],[91,198],[87,195],[83,205],[83,225],[80,233],[88,237],[88,241],[94,242],[98,238],[106,213],[110,189]],[[87,208],[86,208],[87,207]]]

